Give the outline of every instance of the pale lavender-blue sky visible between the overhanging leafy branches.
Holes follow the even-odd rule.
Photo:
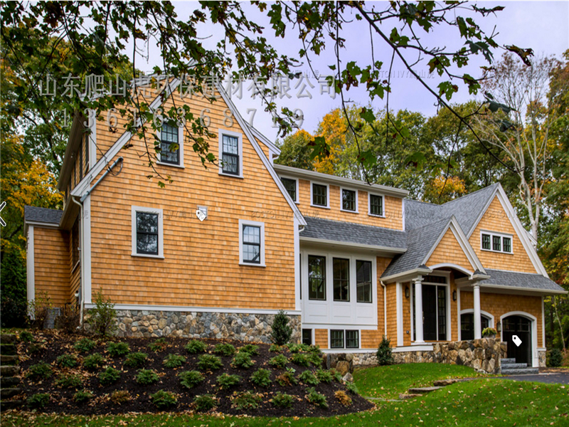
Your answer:
[[[516,45],[521,48],[532,48],[536,56],[553,55],[558,58],[561,58],[561,54],[569,49],[569,1],[484,1],[478,2],[478,5],[488,9],[494,6],[504,6],[504,11],[499,11],[495,16],[492,14],[485,18],[479,15],[475,16],[469,11],[460,12],[461,16],[464,17],[473,16],[476,23],[486,33],[497,32],[495,40],[499,45]],[[366,6],[369,9],[372,4],[366,4]],[[378,9],[384,9],[386,3],[376,2],[373,6]],[[193,1],[174,1],[174,7],[176,14],[181,19],[184,16],[189,16],[199,5]],[[269,26],[267,17],[260,14],[254,6],[245,2],[243,9],[248,19],[262,26]],[[450,16],[450,18],[452,19],[454,16]],[[382,31],[390,32],[390,29],[395,25],[397,25],[395,21],[384,23]],[[302,48],[302,43],[299,41],[298,33],[295,30],[287,29],[285,38],[271,37],[271,31],[265,31],[264,33],[269,43],[282,53],[297,56],[299,49]],[[223,32],[220,32],[220,29],[212,26],[211,23],[206,23],[198,27],[198,36],[205,37],[206,41],[204,43],[206,47],[213,48],[217,41],[223,37]],[[351,23],[344,26],[342,36],[346,39],[346,47],[341,51],[341,61],[344,65],[351,60],[355,60],[358,65],[367,65],[371,62],[371,35],[367,24],[353,19]],[[424,46],[445,46],[447,50],[460,48],[464,43],[464,39],[459,38],[456,28],[435,28],[435,31],[418,33],[418,36]],[[494,60],[499,59],[502,52],[496,51]],[[375,60],[383,61],[384,65],[381,70],[385,77],[388,75],[391,54],[392,51],[385,45],[385,42],[379,40],[379,36],[374,36],[373,57]],[[413,62],[416,56],[408,55],[408,58]],[[335,63],[335,61],[333,45],[329,43],[329,46],[326,46],[320,56],[312,57],[312,69],[317,74],[329,74],[331,71],[328,65]],[[144,58],[144,60],[137,58],[137,68],[141,70],[151,70],[152,66],[156,64],[159,65],[159,50],[154,46],[149,47],[147,58]],[[486,63],[482,56],[474,57],[466,68],[459,70],[459,73],[469,73],[475,78],[479,77],[482,73],[480,70],[481,65],[489,64]],[[426,60],[415,65],[414,69],[424,76],[425,82],[433,88],[436,88],[437,84],[442,81],[436,75],[428,75]],[[291,81],[292,89],[289,91],[289,94],[292,95],[291,99],[284,97],[282,100],[277,100],[277,102],[280,106],[287,106],[292,110],[302,110],[304,117],[302,128],[309,132],[314,132],[321,117],[334,108],[339,107],[341,100],[339,95],[332,99],[326,93],[320,94],[318,80],[313,77],[308,63],[303,63],[299,70],[306,71],[307,77],[310,83],[314,85],[314,88],[309,87],[306,78],[302,82],[299,82],[299,80]],[[418,80],[409,77],[407,70],[397,58],[393,62],[391,75],[390,110],[407,109],[421,112],[427,117],[437,113],[435,97],[427,93],[427,90],[420,85]],[[295,89],[294,86],[297,84],[299,86]],[[301,91],[300,89],[303,85],[306,86]],[[256,100],[252,99],[252,90],[248,90],[249,86],[250,82],[243,84],[243,99],[239,100],[233,97],[235,105],[246,120],[250,118],[251,110],[255,109],[256,112],[252,125],[274,141],[277,138],[277,129],[272,126],[270,115],[264,111],[258,97]],[[297,94],[299,92],[304,97],[298,97]],[[307,97],[307,92],[312,97]],[[346,95],[349,100],[357,105],[363,106],[371,103],[376,109],[385,108],[385,98],[383,100],[376,98],[372,101],[363,88],[349,90]],[[468,94],[466,87],[459,85],[459,93],[452,97],[451,102],[466,102],[472,99],[472,97],[473,95]]]

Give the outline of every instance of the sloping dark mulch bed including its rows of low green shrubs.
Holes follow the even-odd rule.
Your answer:
[[[18,397],[40,412],[334,416],[373,407],[353,384],[322,368],[317,347],[304,344],[93,339],[56,331],[20,337]]]

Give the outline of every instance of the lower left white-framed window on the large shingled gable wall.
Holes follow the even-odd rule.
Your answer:
[[[132,256],[164,258],[162,209],[132,206]]]

